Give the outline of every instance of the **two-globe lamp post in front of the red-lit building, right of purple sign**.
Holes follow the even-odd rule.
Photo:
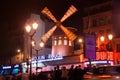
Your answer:
[[[108,35],[108,42],[105,44],[105,48],[106,48],[106,59],[107,59],[107,64],[109,64],[109,60],[108,60],[108,50],[109,50],[109,47],[111,47],[111,46],[109,46],[110,45],[110,41],[113,39],[113,35],[112,34],[109,34]],[[101,36],[100,37],[100,40],[102,41],[102,43],[104,44],[104,40],[105,40],[105,38],[104,38],[104,36]],[[110,43],[109,43],[110,42]],[[104,48],[104,47],[103,47]]]

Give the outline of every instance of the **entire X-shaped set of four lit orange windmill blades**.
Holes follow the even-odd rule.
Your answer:
[[[60,27],[61,30],[63,30],[63,32],[69,38],[70,41],[75,40],[77,36],[72,31],[62,26],[61,23],[65,21],[68,17],[70,17],[73,13],[75,13],[76,11],[77,9],[73,5],[71,5],[68,11],[65,13],[65,15],[61,18],[61,20],[57,21],[57,19],[53,16],[50,10],[47,7],[45,7],[41,12],[47,17],[49,17],[51,20],[53,20],[56,23],[56,26],[54,26],[52,29],[50,29],[47,33],[45,33],[42,36],[41,38],[42,41],[45,43],[50,38],[50,36],[53,34],[53,32],[56,30],[57,27]]]

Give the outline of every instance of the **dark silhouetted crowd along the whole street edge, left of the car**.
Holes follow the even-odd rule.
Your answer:
[[[26,72],[9,76],[9,78],[1,77],[0,80],[83,80],[83,75],[87,70],[88,68],[82,69],[81,65],[71,65],[70,69],[66,69],[65,66],[61,68],[56,66],[52,71],[32,73],[31,77]]]

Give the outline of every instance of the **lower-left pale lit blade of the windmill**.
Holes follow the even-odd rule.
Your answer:
[[[41,41],[43,41],[44,43],[46,43],[46,41],[50,38],[50,36],[53,34],[53,32],[56,30],[57,26],[55,25],[54,27],[52,27],[47,33],[45,33],[42,37],[41,37]]]

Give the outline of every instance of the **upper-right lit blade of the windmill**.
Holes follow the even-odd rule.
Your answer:
[[[70,17],[76,11],[77,11],[77,9],[73,5],[71,5],[60,21],[61,22],[65,21],[68,17]]]

